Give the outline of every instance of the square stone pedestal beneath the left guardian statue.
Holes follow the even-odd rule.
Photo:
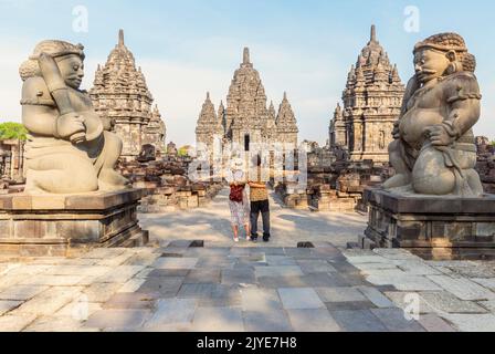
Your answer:
[[[0,254],[72,257],[148,241],[136,209],[143,189],[87,195],[0,196]]]

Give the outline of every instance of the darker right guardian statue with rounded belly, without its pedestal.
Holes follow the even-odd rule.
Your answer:
[[[473,126],[481,115],[475,58],[456,33],[432,35],[414,48],[415,74],[389,146],[397,174],[385,189],[430,196],[477,197]]]

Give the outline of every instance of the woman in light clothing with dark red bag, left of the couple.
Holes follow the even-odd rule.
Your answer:
[[[227,176],[230,185],[229,207],[231,212],[232,230],[234,232],[234,242],[239,242],[239,229],[244,226],[246,240],[250,241],[250,206],[246,194],[246,176],[243,170],[242,159],[234,159],[231,170]]]

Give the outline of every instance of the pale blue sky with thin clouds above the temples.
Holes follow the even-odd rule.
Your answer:
[[[194,143],[206,93],[218,107],[244,46],[277,107],[284,91],[299,139],[325,144],[350,65],[370,25],[406,83],[412,49],[440,32],[457,32],[476,55],[483,111],[476,135],[495,138],[495,2],[489,0],[0,0],[0,122],[20,122],[19,66],[46,39],[83,43],[91,88],[125,30],[167,125],[167,143]],[[85,15],[87,14],[87,17]]]

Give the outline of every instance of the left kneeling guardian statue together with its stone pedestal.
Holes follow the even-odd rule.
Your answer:
[[[25,190],[0,196],[0,254],[72,257],[91,248],[141,246],[143,189],[115,170],[122,139],[80,90],[84,48],[39,43],[20,67]]]

